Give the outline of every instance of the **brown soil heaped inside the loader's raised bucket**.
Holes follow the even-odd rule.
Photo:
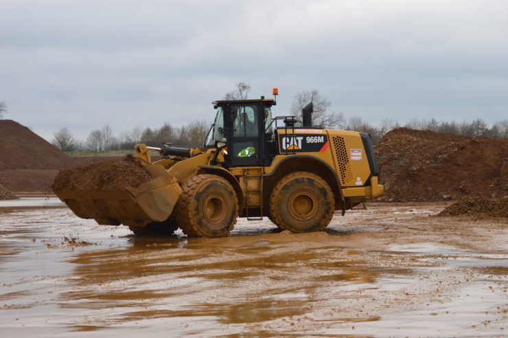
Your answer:
[[[139,159],[128,155],[122,160],[108,160],[62,170],[51,186],[58,190],[117,190],[138,187],[153,177]]]

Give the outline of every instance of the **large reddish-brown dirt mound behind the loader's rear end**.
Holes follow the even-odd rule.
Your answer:
[[[397,128],[376,147],[385,201],[508,195],[508,140]]]

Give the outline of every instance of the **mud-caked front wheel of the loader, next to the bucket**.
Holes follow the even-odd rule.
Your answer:
[[[176,203],[176,221],[189,237],[223,237],[238,217],[238,199],[229,182],[217,175],[200,174],[182,184]]]

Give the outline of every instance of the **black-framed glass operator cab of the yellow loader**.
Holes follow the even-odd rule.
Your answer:
[[[227,166],[267,166],[272,161],[273,99],[222,100],[212,102],[217,115],[205,147],[227,144]]]

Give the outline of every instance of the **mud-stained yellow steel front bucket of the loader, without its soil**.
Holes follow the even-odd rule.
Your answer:
[[[144,165],[154,179],[122,190],[56,190],[56,196],[81,218],[102,225],[143,226],[165,221],[182,193],[175,177],[163,166]]]

